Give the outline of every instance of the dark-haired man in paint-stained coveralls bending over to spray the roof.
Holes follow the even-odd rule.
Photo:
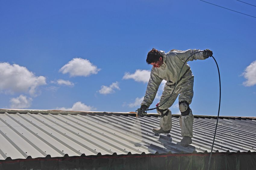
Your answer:
[[[162,80],[166,80],[167,82],[159,102],[160,107],[156,109],[157,113],[161,117],[160,128],[153,128],[152,131],[156,134],[170,133],[172,128],[172,113],[168,108],[172,106],[176,98],[179,96],[179,110],[181,112],[179,123],[181,128],[181,135],[183,137],[181,140],[181,145],[185,147],[192,143],[191,138],[193,138],[194,117],[189,104],[191,104],[194,94],[194,76],[192,75],[190,67],[187,63],[184,65],[180,76],[179,72],[186,59],[198,51],[200,50],[189,49],[186,51],[180,51],[173,49],[168,53],[164,53],[164,51],[158,51],[153,48],[150,52],[148,52],[146,60],[147,63],[153,65],[153,67],[151,69],[146,94],[144,96],[143,102],[141,103],[141,109],[145,110],[149,108],[156,96],[156,92],[160,83]],[[197,59],[204,60],[212,55],[213,52],[209,49],[206,49],[203,52],[198,52],[192,55],[188,61]],[[175,87],[176,83],[177,85]],[[174,87],[174,93],[168,99],[168,101],[164,103],[166,99],[171,95]]]

